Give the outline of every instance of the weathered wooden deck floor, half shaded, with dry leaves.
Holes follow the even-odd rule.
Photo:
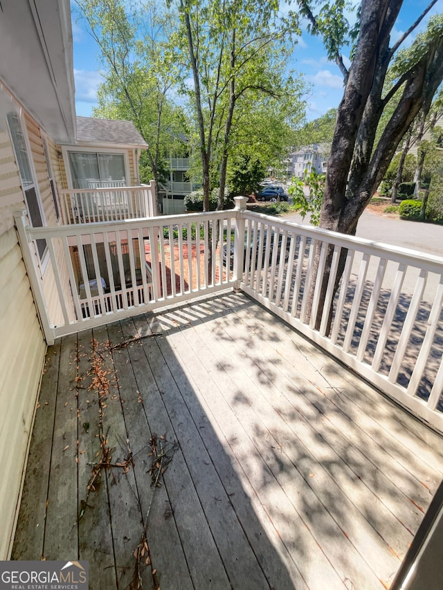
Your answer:
[[[229,293],[48,350],[12,557],[103,590],[382,589],[442,474],[440,436]]]

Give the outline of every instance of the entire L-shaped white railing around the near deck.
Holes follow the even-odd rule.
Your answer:
[[[443,259],[246,212],[241,199],[232,211],[66,228],[25,228],[17,217],[48,342],[125,315],[241,288],[443,432]],[[28,244],[42,238],[63,310],[60,325],[51,323],[39,295]],[[313,273],[316,261],[321,281]],[[150,273],[141,273],[143,262]],[[62,266],[66,285],[57,279]],[[118,282],[123,275],[127,280]],[[66,303],[69,291],[73,311]],[[327,376],[327,367],[322,370]]]

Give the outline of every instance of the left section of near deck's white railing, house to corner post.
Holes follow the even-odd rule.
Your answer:
[[[233,236],[234,218],[233,210],[29,228],[16,216],[46,340],[232,288],[217,236]],[[57,301],[44,297],[37,239],[48,245]]]

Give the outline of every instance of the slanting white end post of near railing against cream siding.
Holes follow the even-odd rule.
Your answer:
[[[40,279],[40,270],[35,259],[34,247],[32,240],[28,239],[26,228],[28,227],[28,218],[26,211],[16,211],[14,214],[15,226],[17,233],[19,234],[19,243],[23,259],[26,267],[26,273],[30,282],[30,288],[33,292],[35,305],[37,306],[37,312],[39,314],[40,323],[44,332],[44,338],[48,346],[54,344],[54,333],[49,323],[48,308],[46,307],[42,281]]]

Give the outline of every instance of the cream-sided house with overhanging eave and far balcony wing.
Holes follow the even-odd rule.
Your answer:
[[[42,226],[100,215],[117,219],[117,207],[132,216],[154,211],[145,187],[107,191],[110,185],[139,183],[138,157],[146,144],[134,125],[75,117],[69,3],[2,0],[0,51],[0,560],[5,560],[46,352],[14,214],[26,210],[30,225]],[[46,240],[37,240],[35,258],[48,301],[62,288],[67,313],[75,313],[68,271],[61,262],[57,286]],[[134,259],[131,265],[134,271]],[[78,288],[81,293],[82,285]],[[53,317],[62,314],[60,304],[51,305]]]

